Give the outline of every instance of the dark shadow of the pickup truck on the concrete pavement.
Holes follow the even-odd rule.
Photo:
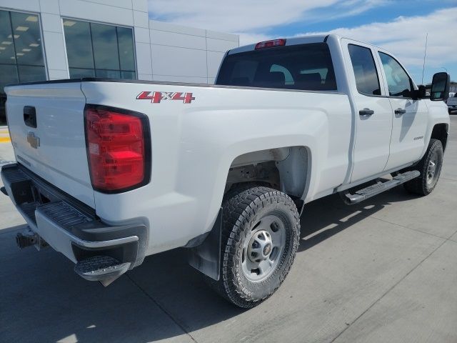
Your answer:
[[[412,198],[397,187],[353,207],[338,196],[307,204],[298,254],[383,207]],[[73,264],[51,249],[19,252],[15,234],[14,228],[0,232],[0,342],[151,342],[172,337],[190,342],[185,332],[246,312],[207,287],[186,263],[185,249],[146,258],[141,267],[104,288],[77,277]]]

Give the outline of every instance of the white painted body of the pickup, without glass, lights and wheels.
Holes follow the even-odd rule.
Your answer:
[[[423,99],[419,101],[423,112],[411,111],[403,119],[396,118],[393,111],[401,105],[388,97],[377,58],[381,96],[363,97],[356,90],[347,45],[360,42],[330,35],[288,39],[286,45],[324,40],[331,52],[337,91],[141,81],[6,87],[16,157],[24,164],[19,158],[24,155],[32,172],[93,207],[103,222],[146,224],[146,254],[182,247],[211,230],[231,164],[243,154],[291,146],[305,149],[306,164],[293,165],[307,170],[289,171],[306,177],[301,197],[305,202],[378,177],[389,165],[411,165],[421,159],[433,126],[449,123],[446,104]],[[364,46],[373,54],[381,50]],[[229,54],[253,49],[253,45],[243,46]],[[195,99],[189,104],[136,99],[144,91],[191,93]],[[85,104],[127,109],[149,117],[149,184],[120,194],[94,192],[86,157]],[[38,129],[24,126],[22,109],[26,105],[36,106]],[[365,107],[375,111],[368,119],[358,113]],[[27,144],[28,131],[40,137],[39,149]],[[423,139],[409,141],[416,131],[423,131]],[[396,156],[389,160],[392,151]]]

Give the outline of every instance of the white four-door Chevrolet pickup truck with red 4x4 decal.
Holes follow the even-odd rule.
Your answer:
[[[228,51],[216,85],[8,86],[17,163],[2,191],[29,224],[19,247],[49,244],[85,279],[186,247],[217,292],[253,307],[291,268],[303,204],[432,192],[448,89],[436,74],[425,99],[388,51],[333,34]]]

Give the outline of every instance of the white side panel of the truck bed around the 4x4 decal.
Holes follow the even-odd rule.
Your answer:
[[[81,89],[88,104],[149,116],[151,183],[122,194],[94,193],[104,222],[134,219],[149,226],[148,254],[181,247],[211,229],[229,168],[241,154],[306,146],[312,151],[312,171],[303,171],[311,172],[306,199],[331,193],[346,176],[351,106],[344,94],[101,81],[83,82]],[[195,99],[136,99],[145,91]]]

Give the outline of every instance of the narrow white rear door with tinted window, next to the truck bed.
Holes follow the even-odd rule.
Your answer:
[[[376,51],[358,41],[342,39],[348,80],[356,111],[351,182],[382,172],[389,156],[392,109],[381,87],[383,79],[374,58]]]

